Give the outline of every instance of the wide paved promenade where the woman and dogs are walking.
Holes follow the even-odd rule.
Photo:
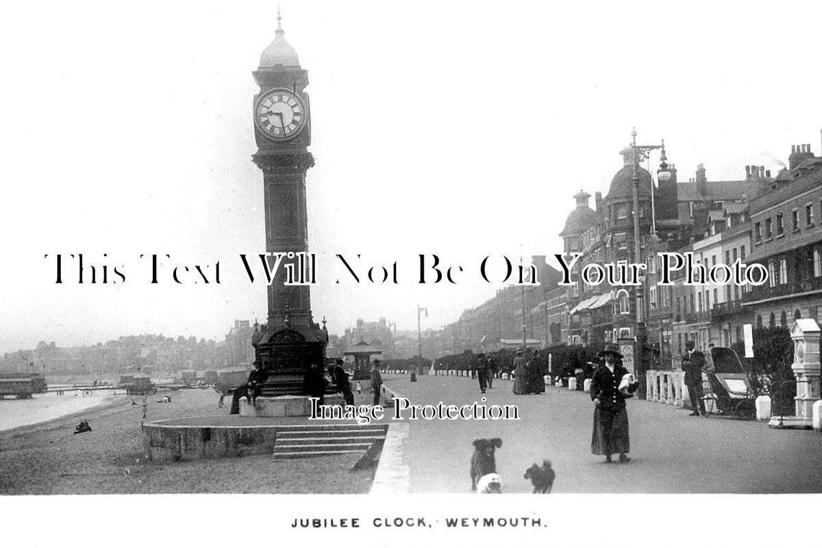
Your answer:
[[[756,421],[690,417],[683,408],[631,399],[631,462],[604,463],[590,454],[593,403],[589,394],[546,387],[516,396],[495,380],[480,394],[466,377],[384,375],[386,386],[415,404],[515,403],[519,421],[407,421],[402,462],[410,491],[469,493],[471,442],[503,440],[497,471],[506,493],[529,493],[525,469],[544,458],[563,493],[805,493],[822,492],[822,434],[774,430]],[[392,421],[396,424],[395,421]]]

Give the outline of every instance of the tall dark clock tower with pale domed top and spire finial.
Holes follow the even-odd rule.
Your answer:
[[[306,172],[314,165],[308,73],[285,41],[277,12],[274,41],[253,72],[260,92],[254,96],[252,124],[263,173],[266,253],[285,254],[268,291],[268,322],[252,336],[257,361],[269,371],[263,395],[306,394],[303,375],[316,363],[324,368],[328,333],[314,323],[308,285],[285,285],[288,266],[306,272],[308,218]],[[270,265],[274,260],[270,258]],[[309,278],[310,279],[310,278]]]

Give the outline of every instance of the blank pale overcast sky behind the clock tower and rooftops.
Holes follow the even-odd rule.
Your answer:
[[[480,279],[484,256],[561,251],[571,196],[607,191],[631,127],[640,143],[665,139],[684,181],[698,163],[739,179],[746,164],[777,170],[793,144],[819,154],[820,2],[571,3],[281,2],[309,72],[312,308],[332,334],[358,317],[416,329],[418,303],[438,329],[501,288]],[[219,340],[234,319],[265,320],[265,288],[238,255],[265,250],[252,71],[276,10],[5,8],[0,352]],[[65,257],[56,284],[58,253],[109,265],[118,283],[78,284]],[[221,283],[165,270],[153,286],[141,253],[219,260]],[[337,253],[396,261],[399,283],[335,285]],[[465,271],[421,286],[419,253]]]

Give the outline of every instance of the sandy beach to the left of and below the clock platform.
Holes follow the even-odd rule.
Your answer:
[[[78,400],[66,405],[79,406],[82,414],[74,408],[73,416],[0,432],[0,495],[367,493],[371,488],[373,468],[349,472],[358,454],[153,463],[143,451],[142,406],[130,405],[129,396],[114,396],[109,403],[105,396],[63,398]],[[228,408],[217,408],[219,396],[211,389],[179,390],[171,398],[171,403],[157,403],[158,395],[148,398],[148,420],[229,414]],[[83,400],[100,405],[83,408]],[[18,402],[0,406],[9,403]],[[88,419],[92,431],[74,435],[79,418]]]

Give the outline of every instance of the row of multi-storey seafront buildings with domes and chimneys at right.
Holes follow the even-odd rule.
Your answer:
[[[541,285],[509,287],[445,327],[444,338],[455,350],[505,346],[528,339],[529,346],[600,346],[633,338],[636,300],[631,288],[580,282],[589,263],[634,262],[634,155],[621,152],[623,167],[607,194],[576,194],[575,209],[560,236],[567,255],[581,253],[571,286],[558,285],[560,273],[534,256]],[[677,168],[665,163],[654,184],[652,174],[637,167],[639,177],[640,262],[646,262],[641,300],[648,341],[658,349],[659,366],[677,366],[685,341],[697,348],[709,343],[741,342],[745,324],[789,326],[796,318],[822,315],[822,158],[810,145],[793,145],[787,167],[772,175],[762,166],[746,166],[733,181],[710,181],[700,165],[695,177],[680,182]],[[663,180],[664,179],[664,180]],[[685,269],[672,286],[658,285],[658,253],[691,252],[710,267],[737,259],[758,263],[769,273],[761,286],[683,285]],[[523,333],[523,329],[525,333]],[[459,343],[456,343],[459,342]]]

